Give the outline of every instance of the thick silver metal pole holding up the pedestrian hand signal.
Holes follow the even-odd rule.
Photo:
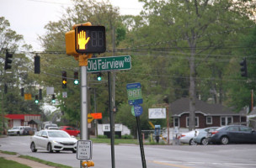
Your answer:
[[[88,102],[87,102],[87,66],[80,66],[81,70],[81,135],[80,139],[88,140]],[[80,167],[82,167],[82,161]]]

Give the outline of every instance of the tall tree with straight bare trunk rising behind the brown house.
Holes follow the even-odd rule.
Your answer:
[[[144,38],[138,43],[155,49],[174,47],[189,54],[189,129],[195,129],[196,59],[208,59],[211,53],[223,48],[231,30],[253,24],[249,19],[251,13],[246,13],[253,6],[228,0],[141,2],[145,3],[143,16],[147,21],[141,28]],[[164,40],[168,42],[157,45]]]

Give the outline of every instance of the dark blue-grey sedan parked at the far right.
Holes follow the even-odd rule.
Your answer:
[[[212,143],[256,143],[256,132],[243,125],[229,125],[211,132]]]

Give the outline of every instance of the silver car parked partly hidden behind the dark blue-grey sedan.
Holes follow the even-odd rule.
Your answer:
[[[208,127],[205,129],[200,129],[197,133],[197,136],[193,139],[196,144],[208,144],[207,134],[209,131],[214,131],[220,127]]]

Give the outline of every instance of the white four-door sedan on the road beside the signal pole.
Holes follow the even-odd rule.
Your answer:
[[[67,132],[62,130],[45,129],[40,130],[30,139],[30,150],[48,150],[49,152],[61,150],[77,151],[77,139],[72,138]]]

